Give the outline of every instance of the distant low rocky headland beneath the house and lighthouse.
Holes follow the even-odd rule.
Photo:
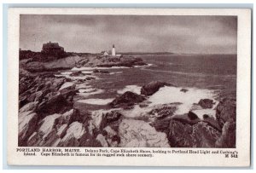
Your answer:
[[[28,56],[30,57],[30,56]],[[20,60],[20,67],[29,72],[51,72],[67,70],[73,67],[112,67],[112,66],[145,66],[141,58],[133,56],[102,56],[102,55],[69,55],[54,61],[38,61],[33,58]]]

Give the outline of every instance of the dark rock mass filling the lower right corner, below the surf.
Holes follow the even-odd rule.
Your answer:
[[[167,134],[171,147],[236,147],[235,102],[225,99],[219,102],[217,109],[216,119],[208,115],[200,119],[190,111],[158,119],[151,125]]]

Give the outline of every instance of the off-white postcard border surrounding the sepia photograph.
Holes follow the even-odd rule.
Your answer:
[[[238,159],[219,155],[155,155],[154,158],[68,158],[24,157],[16,153],[18,144],[18,74],[20,14],[136,14],[136,15],[237,15],[237,116]],[[20,165],[141,165],[141,166],[248,166],[250,164],[250,9],[9,9],[8,24],[8,163]],[[126,148],[128,149],[128,148]],[[147,148],[148,149],[148,148]],[[172,149],[172,148],[170,148]],[[178,149],[178,148],[175,148]],[[202,148],[198,148],[200,150]],[[212,151],[218,148],[210,149]],[[230,150],[230,149],[229,149]],[[232,150],[232,149],[231,149]]]

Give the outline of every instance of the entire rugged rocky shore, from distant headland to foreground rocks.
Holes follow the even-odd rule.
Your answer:
[[[77,66],[144,66],[140,59],[87,57],[75,58],[69,68]],[[122,60],[121,60],[122,59]],[[70,59],[71,60],[71,59]],[[63,61],[63,60],[62,60]],[[189,112],[176,114],[180,103],[149,107],[148,97],[163,87],[175,87],[161,81],[144,84],[140,94],[126,91],[108,103],[106,110],[81,111],[75,107],[74,97],[90,74],[71,72],[70,77],[56,76],[53,62],[44,67],[27,62],[20,67],[19,83],[19,146],[20,147],[236,147],[236,100],[224,98],[218,105],[209,98],[201,98]],[[58,60],[58,62],[60,62]],[[46,63],[46,64],[45,64]],[[50,66],[49,63],[55,64]],[[23,68],[26,66],[26,68]],[[41,66],[41,65],[40,65]],[[101,71],[95,71],[97,73]],[[102,71],[103,73],[108,73]],[[181,89],[179,92],[190,92]],[[145,108],[143,116],[129,118],[135,107]],[[215,118],[198,111],[212,109]]]

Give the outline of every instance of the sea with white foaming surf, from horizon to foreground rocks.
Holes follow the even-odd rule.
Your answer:
[[[96,73],[80,87],[76,96],[76,106],[81,109],[106,109],[108,102],[131,91],[140,94],[144,84],[151,81],[164,81],[176,87],[164,87],[150,96],[149,106],[172,102],[183,103],[178,114],[188,112],[200,99],[213,99],[216,104],[224,97],[236,98],[236,55],[143,55],[138,56],[148,66],[105,67],[109,73]],[[93,68],[73,68],[72,71],[91,73]],[[62,72],[61,75],[70,73]],[[84,78],[84,77],[79,77]],[[73,78],[76,79],[76,78]],[[180,92],[180,89],[189,92]],[[139,107],[133,110],[142,112]],[[131,112],[134,116],[134,112]]]

